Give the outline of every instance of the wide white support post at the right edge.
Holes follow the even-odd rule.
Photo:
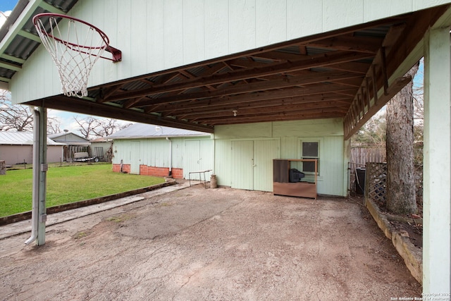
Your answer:
[[[426,296],[444,294],[443,297],[449,298],[451,281],[450,28],[431,29],[424,39],[424,51],[423,291]]]

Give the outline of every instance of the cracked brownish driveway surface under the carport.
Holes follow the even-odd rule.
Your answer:
[[[0,300],[390,300],[417,283],[362,205],[168,192],[0,240]]]

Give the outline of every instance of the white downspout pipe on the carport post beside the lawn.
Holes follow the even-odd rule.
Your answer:
[[[39,111],[33,109],[33,188],[32,188],[32,214],[31,214],[31,236],[25,240],[25,245],[29,245],[37,238],[38,218],[39,218]]]

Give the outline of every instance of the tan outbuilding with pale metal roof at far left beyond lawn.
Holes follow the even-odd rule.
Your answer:
[[[47,138],[47,162],[60,162],[63,158],[63,144]],[[32,164],[33,133],[0,131],[0,161],[7,166]]]

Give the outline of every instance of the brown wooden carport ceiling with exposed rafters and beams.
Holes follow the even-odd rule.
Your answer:
[[[215,125],[345,118],[349,135],[407,83],[389,85],[388,78],[446,9],[110,82],[89,88],[85,99],[57,95],[29,104],[209,133]],[[382,97],[371,103],[377,90]]]

